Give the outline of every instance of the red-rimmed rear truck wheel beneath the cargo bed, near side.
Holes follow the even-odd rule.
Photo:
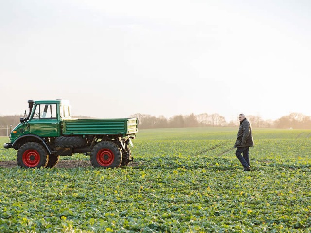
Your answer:
[[[122,162],[121,149],[113,142],[97,143],[90,155],[93,167],[118,168]]]

